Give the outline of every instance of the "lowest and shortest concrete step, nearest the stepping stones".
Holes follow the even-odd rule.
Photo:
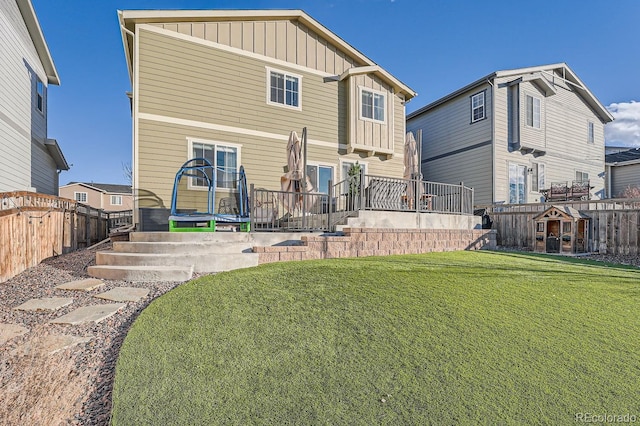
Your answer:
[[[125,281],[187,281],[193,268],[179,266],[89,266],[87,273],[96,278]]]

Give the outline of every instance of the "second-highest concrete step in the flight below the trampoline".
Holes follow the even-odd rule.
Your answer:
[[[253,247],[251,242],[230,242],[220,243],[209,242],[186,242],[186,241],[123,241],[114,242],[113,251],[118,253],[242,253],[250,252]]]

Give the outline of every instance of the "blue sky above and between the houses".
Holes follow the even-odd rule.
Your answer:
[[[49,89],[49,137],[73,164],[61,184],[127,183],[131,87],[117,9],[303,9],[417,91],[407,112],[493,71],[566,62],[620,113],[615,142],[640,144],[638,0],[32,1],[61,79]]]

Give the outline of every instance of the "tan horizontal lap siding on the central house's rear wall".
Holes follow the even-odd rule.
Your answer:
[[[289,133],[301,136],[303,127],[308,129],[308,162],[333,166],[334,180],[340,178],[341,159],[365,162],[369,173],[402,176],[402,144],[389,160],[347,154],[345,82],[148,26],[139,26],[137,37],[139,207],[170,207],[175,173],[191,158],[189,138],[239,146],[248,183],[267,189],[280,188]],[[301,109],[267,103],[268,67],[301,77]],[[402,122],[404,107],[395,109]],[[397,129],[396,136],[403,137]],[[217,190],[217,198],[224,194]],[[202,206],[206,191],[186,191],[184,197]]]

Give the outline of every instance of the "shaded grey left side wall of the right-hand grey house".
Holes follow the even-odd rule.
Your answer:
[[[486,118],[472,123],[471,97],[483,91]],[[424,179],[464,182],[474,189],[476,203],[492,198],[491,94],[485,84],[407,121],[408,131],[422,129]]]

